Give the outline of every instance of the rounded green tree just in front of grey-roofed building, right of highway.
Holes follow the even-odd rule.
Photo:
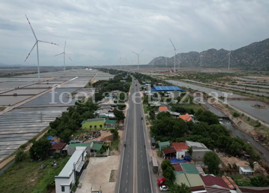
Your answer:
[[[221,160],[215,152],[206,152],[203,156],[203,163],[208,166],[210,174],[219,174],[219,164]]]

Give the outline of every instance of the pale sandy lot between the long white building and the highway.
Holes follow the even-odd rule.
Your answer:
[[[116,181],[109,182],[111,170],[118,170],[120,156],[91,157],[86,170],[83,171],[79,179],[82,187],[77,189],[77,193],[98,191],[112,193],[115,190]],[[91,189],[92,188],[92,189]]]

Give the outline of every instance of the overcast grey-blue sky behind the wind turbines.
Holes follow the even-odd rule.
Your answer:
[[[39,64],[119,65],[182,52],[235,50],[269,37],[268,0],[1,0],[0,63],[37,64],[32,28],[40,41]],[[119,53],[120,52],[120,53]]]

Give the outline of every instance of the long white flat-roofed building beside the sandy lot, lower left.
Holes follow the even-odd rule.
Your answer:
[[[76,151],[63,167],[60,174],[55,176],[56,193],[70,193],[72,184],[76,182],[76,176],[80,176],[86,161],[86,147],[76,147]]]

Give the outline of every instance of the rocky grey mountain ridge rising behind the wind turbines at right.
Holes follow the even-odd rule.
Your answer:
[[[209,49],[203,52],[188,52],[180,54],[181,67],[199,67],[200,54],[203,55],[201,67],[228,68],[228,50]],[[251,43],[245,47],[231,51],[230,68],[242,70],[269,70],[269,39]],[[174,66],[174,57],[167,59],[168,66]],[[153,60],[148,63],[152,65]],[[155,66],[165,66],[166,57],[157,57]],[[176,55],[176,68],[179,66],[179,54]]]

